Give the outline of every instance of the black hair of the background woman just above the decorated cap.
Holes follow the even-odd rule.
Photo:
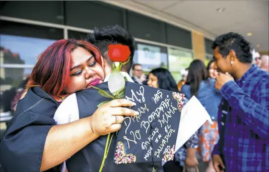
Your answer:
[[[158,78],[159,88],[178,92],[177,84],[171,73],[165,68],[157,68],[150,72]]]

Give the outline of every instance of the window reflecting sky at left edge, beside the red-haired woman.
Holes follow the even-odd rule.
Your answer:
[[[31,74],[38,55],[55,40],[63,38],[63,29],[0,21],[0,93],[1,112],[11,110],[20,83]]]

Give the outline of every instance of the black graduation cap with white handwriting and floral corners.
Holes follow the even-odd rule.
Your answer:
[[[117,133],[114,162],[173,160],[184,94],[126,82],[125,99],[140,114],[125,117]]]

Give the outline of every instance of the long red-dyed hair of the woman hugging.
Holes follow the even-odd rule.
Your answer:
[[[40,86],[57,101],[61,101],[66,96],[64,90],[70,86],[70,69],[73,64],[71,53],[77,47],[91,52],[102,65],[100,51],[91,43],[75,39],[58,40],[40,54],[26,91],[30,87]]]

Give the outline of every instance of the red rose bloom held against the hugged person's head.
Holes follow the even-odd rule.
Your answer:
[[[127,45],[108,45],[108,56],[112,62],[126,62],[131,52]]]

